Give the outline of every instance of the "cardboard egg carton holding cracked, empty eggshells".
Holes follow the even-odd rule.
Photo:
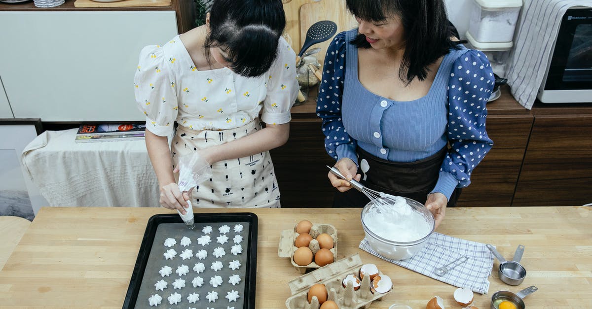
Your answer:
[[[308,302],[308,289],[314,284],[324,284],[327,288],[327,300],[336,302],[340,309],[368,308],[375,300],[382,300],[382,297],[393,291],[386,293],[370,291],[370,276],[364,276],[360,288],[355,291],[352,282],[348,282],[343,287],[343,279],[348,275],[359,276],[362,267],[362,259],[356,253],[345,259],[340,259],[329,265],[316,269],[306,275],[302,275],[290,282],[288,285],[292,296],[286,300],[288,309],[318,309],[320,307],[318,299],[313,296],[311,302]],[[382,272],[378,272],[382,275]]]

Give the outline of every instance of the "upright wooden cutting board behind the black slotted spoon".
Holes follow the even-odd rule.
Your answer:
[[[300,7],[300,35],[301,44],[304,44],[306,38],[306,31],[317,21],[330,20],[337,24],[337,33],[341,31],[350,30],[358,27],[358,22],[349,13],[345,6],[345,0],[320,0],[310,4],[303,4]],[[323,65],[325,53],[331,40],[324,41],[323,43],[314,44],[310,48],[320,47],[321,51],[317,53],[318,62]],[[298,54],[298,50],[294,50]]]

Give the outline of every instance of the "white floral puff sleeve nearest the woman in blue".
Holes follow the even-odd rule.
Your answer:
[[[269,69],[266,88],[261,120],[267,124],[289,123],[290,109],[298,95],[298,81],[296,54],[283,37],[279,39],[278,56]]]

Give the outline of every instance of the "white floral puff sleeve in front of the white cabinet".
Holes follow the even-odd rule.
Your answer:
[[[146,115],[146,128],[157,136],[168,136],[178,113],[175,80],[163,47],[146,46],[140,51],[134,94]]]

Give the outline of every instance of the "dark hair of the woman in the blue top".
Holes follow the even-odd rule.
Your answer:
[[[442,0],[346,0],[346,5],[356,18],[365,21],[401,18],[405,52],[399,79],[407,84],[416,77],[420,81],[426,79],[429,65],[451,49],[460,48],[458,42],[451,40],[453,28],[449,27]],[[371,47],[363,34],[350,43],[358,48]]]

